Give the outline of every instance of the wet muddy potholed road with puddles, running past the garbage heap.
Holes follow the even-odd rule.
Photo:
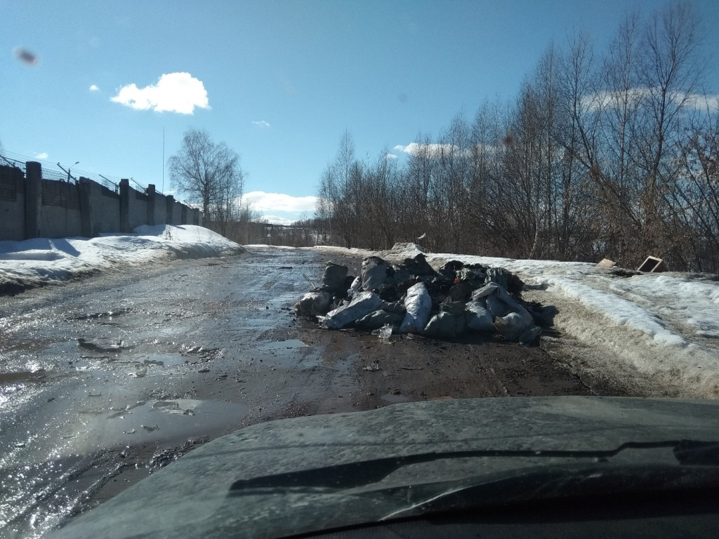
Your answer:
[[[359,259],[331,257],[357,275]],[[383,341],[292,305],[327,254],[253,249],[0,298],[0,534],[42,537],[201,443],[395,402],[625,395],[544,349]]]

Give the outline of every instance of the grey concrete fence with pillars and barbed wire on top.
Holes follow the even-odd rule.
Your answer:
[[[202,212],[161,195],[155,185],[145,192],[120,180],[119,193],[88,178],[77,183],[42,178],[42,166],[25,170],[0,166],[0,240],[92,237],[131,232],[147,224],[202,225]]]

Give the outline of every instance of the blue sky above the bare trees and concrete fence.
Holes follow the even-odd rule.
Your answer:
[[[311,213],[344,129],[372,158],[436,134],[459,111],[472,119],[483,101],[516,95],[551,40],[582,29],[601,52],[626,11],[664,4],[0,0],[0,141],[160,188],[162,130],[166,159],[188,127],[207,129],[242,155],[245,192],[288,195],[257,195],[261,213],[293,218]],[[719,1],[695,6],[707,50],[719,50]],[[17,60],[17,47],[37,64]],[[718,72],[713,58],[707,81]],[[119,93],[162,75],[148,103],[179,111],[132,108],[127,96],[148,94]]]

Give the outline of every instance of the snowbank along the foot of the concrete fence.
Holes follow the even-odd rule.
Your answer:
[[[0,241],[0,295],[97,272],[177,258],[219,257],[244,249],[202,226],[142,225],[134,234]]]

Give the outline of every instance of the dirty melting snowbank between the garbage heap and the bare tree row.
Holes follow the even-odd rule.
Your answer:
[[[679,273],[613,275],[585,262],[428,254],[504,267],[557,306],[554,324],[600,350],[610,364],[649,375],[674,395],[719,398],[719,282]]]

